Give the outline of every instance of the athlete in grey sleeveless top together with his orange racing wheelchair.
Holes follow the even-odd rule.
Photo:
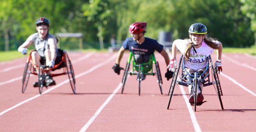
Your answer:
[[[52,76],[72,74],[69,78],[73,78],[73,67],[65,51],[57,49],[58,39],[49,34],[50,21],[47,18],[39,18],[36,20],[37,33],[32,34],[28,39],[18,48],[18,51],[26,55],[28,47],[34,44],[36,50],[31,51],[28,56],[26,67],[23,75],[22,93],[24,93],[30,73],[38,75],[38,82],[34,82],[34,87],[39,87],[40,93],[42,93],[43,86],[55,85],[55,81]],[[67,63],[69,62],[69,69]],[[33,66],[33,68],[31,68]],[[63,74],[52,75],[51,71],[66,67],[66,71]],[[72,80],[75,82],[74,80]],[[71,84],[72,85],[72,84]],[[74,85],[74,84],[73,84]],[[75,89],[75,86],[72,87]],[[73,90],[75,93],[75,90]]]

